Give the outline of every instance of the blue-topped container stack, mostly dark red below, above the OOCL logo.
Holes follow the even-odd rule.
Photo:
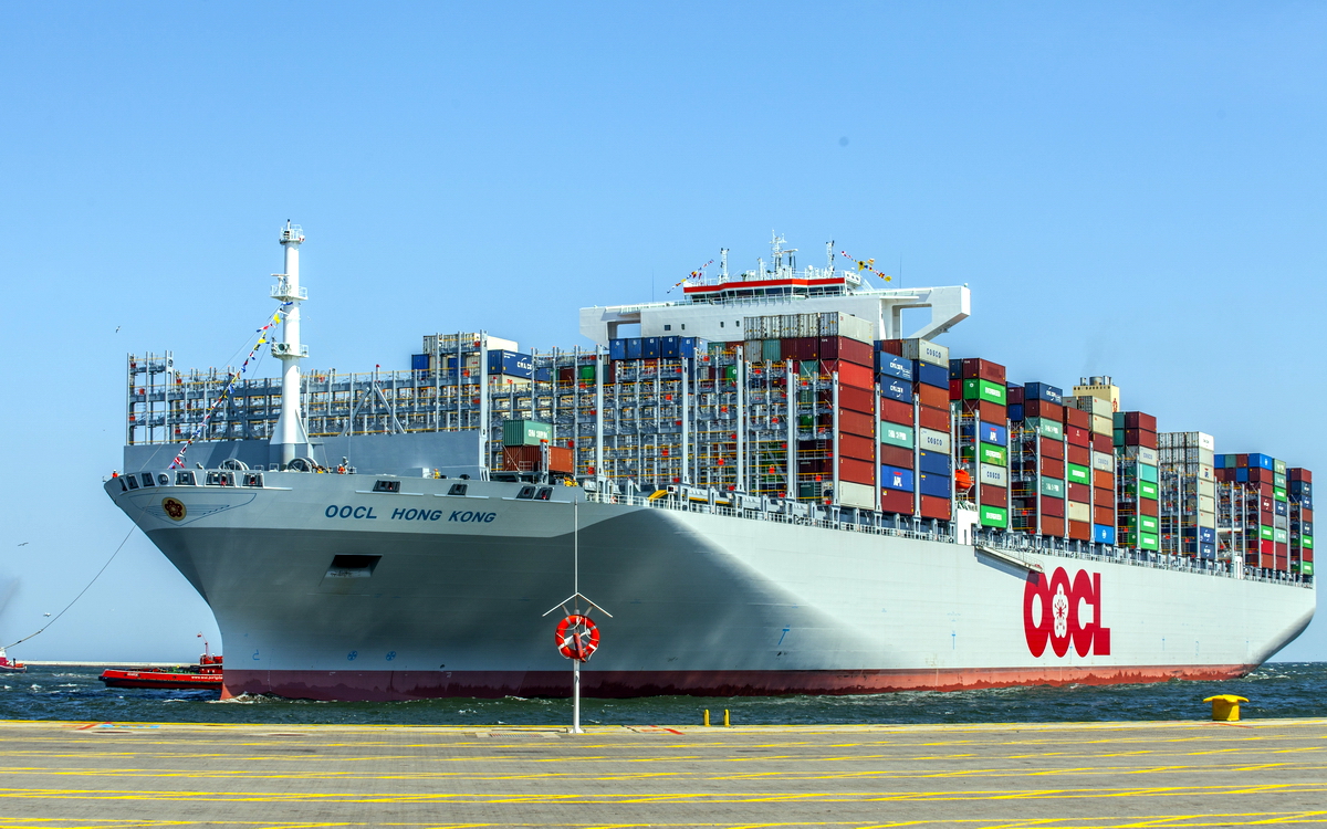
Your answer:
[[[1066,537],[1064,395],[1050,383],[1007,386],[1010,517],[1015,529]],[[1018,401],[1018,402],[1015,402]]]

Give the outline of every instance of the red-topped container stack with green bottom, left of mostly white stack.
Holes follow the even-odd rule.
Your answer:
[[[1141,411],[1113,415],[1117,476],[1116,541],[1119,546],[1161,549],[1157,503],[1157,419]]]

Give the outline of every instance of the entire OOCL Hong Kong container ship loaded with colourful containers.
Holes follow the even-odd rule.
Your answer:
[[[279,239],[253,354],[281,375],[129,355],[105,481],[211,606],[224,696],[568,695],[543,614],[573,568],[612,613],[591,696],[1220,679],[1312,618],[1308,470],[1160,431],[1109,377],[950,354],[967,287],[775,237],[581,309],[591,345],[434,333],[409,369],[301,370],[304,235]]]

